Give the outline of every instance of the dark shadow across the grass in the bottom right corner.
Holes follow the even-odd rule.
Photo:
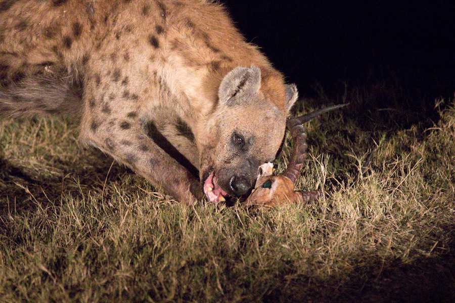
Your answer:
[[[287,281],[266,295],[263,302],[455,302],[453,253],[408,264],[378,259],[372,257],[366,261],[368,266],[355,268],[348,275]]]

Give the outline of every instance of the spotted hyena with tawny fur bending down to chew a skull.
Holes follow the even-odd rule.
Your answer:
[[[79,115],[184,203],[246,194],[297,98],[209,0],[1,1],[0,81],[0,116]]]

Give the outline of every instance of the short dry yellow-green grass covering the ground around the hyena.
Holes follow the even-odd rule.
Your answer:
[[[363,98],[307,123],[297,187],[328,197],[254,213],[183,208],[74,122],[0,122],[0,302],[452,301],[454,104],[401,127]]]

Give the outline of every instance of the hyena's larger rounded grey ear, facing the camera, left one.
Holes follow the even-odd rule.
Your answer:
[[[248,98],[239,98],[244,95],[254,95],[261,87],[261,70],[251,67],[236,67],[224,76],[218,89],[221,103],[228,106],[240,104]]]

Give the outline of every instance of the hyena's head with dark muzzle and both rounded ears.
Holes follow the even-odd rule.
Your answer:
[[[199,146],[200,176],[210,201],[248,193],[258,167],[275,159],[297,99],[295,85],[286,85],[283,91],[281,102],[270,100],[254,65],[237,67],[221,81],[218,103],[207,117]]]

